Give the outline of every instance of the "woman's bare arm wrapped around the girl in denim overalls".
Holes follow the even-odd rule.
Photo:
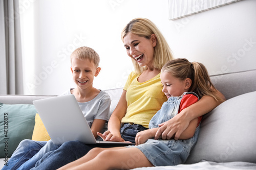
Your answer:
[[[224,95],[218,91],[218,96],[225,99]],[[155,139],[174,139],[178,140],[182,132],[187,129],[191,120],[200,117],[212,109],[216,108],[221,102],[217,102],[210,96],[203,96],[197,103],[183,109],[179,114],[159,125]]]

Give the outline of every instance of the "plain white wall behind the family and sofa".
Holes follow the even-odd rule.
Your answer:
[[[174,21],[168,20],[166,0],[24,2],[20,0],[25,9],[20,14],[25,94],[58,95],[75,87],[69,55],[79,46],[90,46],[100,55],[102,69],[94,79],[96,88],[122,87],[133,65],[120,33],[136,17],[156,23],[176,58],[202,62],[211,75],[256,68],[253,0]]]

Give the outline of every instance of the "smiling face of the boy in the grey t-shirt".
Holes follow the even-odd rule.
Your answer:
[[[87,89],[93,86],[94,77],[98,76],[100,67],[96,68],[89,59],[79,60],[73,58],[71,62],[73,80],[77,88]]]

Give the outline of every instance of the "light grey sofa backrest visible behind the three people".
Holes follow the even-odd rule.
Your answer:
[[[215,87],[224,94],[226,99],[256,91],[256,69],[240,72],[232,72],[221,75],[210,76]],[[123,88],[104,90],[111,97],[111,113],[114,111]],[[56,95],[0,95],[0,103],[5,104],[32,104],[32,101],[44,98],[50,98]]]

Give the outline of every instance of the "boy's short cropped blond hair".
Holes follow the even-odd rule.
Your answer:
[[[90,62],[93,62],[96,68],[99,66],[99,55],[96,53],[93,48],[88,46],[81,46],[76,48],[76,50],[70,56],[70,62],[72,63],[72,59],[77,58],[79,60],[89,59]]]

